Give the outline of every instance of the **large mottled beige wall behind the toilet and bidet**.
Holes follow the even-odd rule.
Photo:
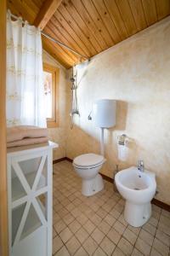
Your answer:
[[[78,72],[79,80],[83,72]],[[112,177],[116,164],[122,169],[143,159],[145,168],[156,173],[156,198],[170,204],[169,17],[90,61],[78,88],[81,117],[73,130],[67,128],[66,156],[99,153],[99,128],[88,113],[100,98],[117,100],[116,126],[105,130],[107,162],[102,172]],[[132,138],[124,163],[117,159],[116,148],[122,133]]]

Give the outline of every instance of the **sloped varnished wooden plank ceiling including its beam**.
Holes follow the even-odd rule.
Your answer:
[[[170,15],[170,0],[8,0],[8,9],[89,58]],[[48,38],[42,45],[66,68],[81,61]]]

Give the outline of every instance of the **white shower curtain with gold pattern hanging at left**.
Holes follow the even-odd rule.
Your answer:
[[[46,126],[41,32],[7,14],[7,125]]]

